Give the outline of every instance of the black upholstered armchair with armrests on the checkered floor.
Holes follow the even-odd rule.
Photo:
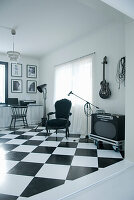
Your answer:
[[[68,99],[61,99],[59,101],[56,101],[55,103],[55,112],[48,113],[48,120],[46,123],[46,131],[48,134],[48,130],[57,130],[58,129],[66,129],[66,138],[69,136],[69,116],[71,115],[72,103]],[[55,114],[55,119],[49,119],[50,115]]]

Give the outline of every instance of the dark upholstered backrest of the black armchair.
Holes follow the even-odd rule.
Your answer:
[[[56,118],[69,118],[72,103],[68,99],[61,99],[55,103]]]

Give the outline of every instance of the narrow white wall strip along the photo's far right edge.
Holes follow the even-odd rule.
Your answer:
[[[134,161],[134,22],[126,25],[126,158]]]

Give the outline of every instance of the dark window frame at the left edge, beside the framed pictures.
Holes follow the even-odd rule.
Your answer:
[[[5,65],[5,103],[0,103],[1,105],[8,103],[8,62],[0,61],[0,65]]]

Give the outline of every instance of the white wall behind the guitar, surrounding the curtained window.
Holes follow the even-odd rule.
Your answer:
[[[124,25],[110,24],[87,37],[71,43],[41,60],[40,83],[48,84],[47,109],[51,110],[54,93],[54,66],[66,61],[79,58],[91,52],[96,52],[93,65],[93,103],[110,113],[125,113],[125,88],[118,90],[116,69],[119,59],[125,55]],[[106,65],[106,80],[110,84],[112,96],[103,100],[99,97],[100,82],[102,80],[102,60],[108,57]],[[86,88],[85,88],[86,90]],[[73,91],[75,93],[75,91]]]

